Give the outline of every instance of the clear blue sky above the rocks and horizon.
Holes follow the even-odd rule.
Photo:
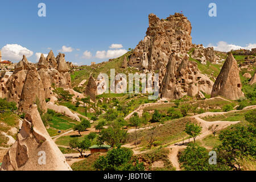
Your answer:
[[[46,17],[38,16],[41,2],[46,4]],[[217,17],[208,15],[211,2],[217,5]],[[123,51],[134,48],[146,35],[148,14],[154,13],[161,19],[181,11],[191,21],[193,43],[206,47],[209,44],[217,46],[223,41],[228,44],[226,46],[246,47],[256,44],[255,7],[255,0],[1,1],[0,48],[2,54],[6,49],[19,51],[20,47],[16,48],[16,45],[5,47],[18,44],[33,52],[28,52],[28,55],[32,53],[28,60],[35,62],[36,53],[48,53],[51,48],[56,56],[65,46],[72,50],[62,50],[67,61],[98,63],[109,57],[105,52],[98,52],[96,57],[96,52],[108,52],[112,44],[122,44],[119,49]],[[118,49],[112,50],[113,55],[122,53]],[[83,56],[85,51],[87,54]],[[15,53],[20,56],[23,52]],[[15,62],[18,58],[5,53],[3,59]]]

